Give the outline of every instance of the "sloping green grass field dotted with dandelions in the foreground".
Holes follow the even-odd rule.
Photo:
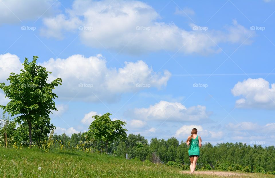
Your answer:
[[[219,177],[182,174],[166,165],[98,153],[44,153],[0,147],[0,157],[0,177]],[[241,177],[275,176],[250,173]]]

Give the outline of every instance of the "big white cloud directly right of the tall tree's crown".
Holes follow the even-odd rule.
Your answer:
[[[50,59],[43,64],[52,72],[50,80],[62,78],[57,87],[58,96],[85,101],[115,101],[120,94],[166,86],[171,73],[156,73],[145,62],[125,62],[123,68],[108,68],[101,56],[86,58],[73,55],[66,59]]]

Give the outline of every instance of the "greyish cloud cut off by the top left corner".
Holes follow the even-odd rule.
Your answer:
[[[19,23],[52,15],[59,2],[55,0],[1,0],[0,23]]]

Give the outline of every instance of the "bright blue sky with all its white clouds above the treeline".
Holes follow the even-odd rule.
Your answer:
[[[275,141],[274,6],[258,1],[1,1],[0,82],[23,59],[61,77],[56,133],[110,112],[128,133]],[[272,85],[273,84],[273,85]],[[140,87],[139,87],[140,86]],[[0,104],[7,103],[0,92]]]

